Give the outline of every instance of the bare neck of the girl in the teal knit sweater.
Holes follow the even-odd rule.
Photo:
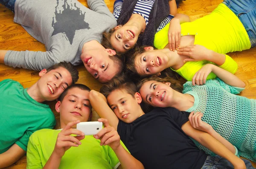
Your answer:
[[[182,94],[174,90],[172,101],[169,102],[169,107],[174,107],[179,111],[186,111],[194,105],[195,99],[192,95]]]

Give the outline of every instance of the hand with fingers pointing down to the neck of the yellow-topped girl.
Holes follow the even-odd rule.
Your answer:
[[[181,38],[181,26],[180,21],[178,19],[173,18],[170,21],[170,27],[168,31],[168,42],[170,51],[177,50],[180,46],[180,38]]]

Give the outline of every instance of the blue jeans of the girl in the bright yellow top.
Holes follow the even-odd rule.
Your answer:
[[[256,46],[256,0],[224,0],[239,18],[249,36],[251,47]]]

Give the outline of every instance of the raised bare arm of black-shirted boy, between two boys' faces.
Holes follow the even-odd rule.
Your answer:
[[[109,124],[117,129],[119,120],[115,113],[108,106],[106,97],[95,90],[91,90],[89,93],[89,100],[99,117],[108,119]]]

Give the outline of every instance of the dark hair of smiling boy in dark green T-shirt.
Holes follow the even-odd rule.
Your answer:
[[[77,80],[79,79],[78,71],[77,69],[70,63],[70,62],[60,62],[58,64],[55,64],[47,69],[47,72],[50,72],[51,70],[58,69],[59,67],[67,69],[68,72],[70,72],[72,77],[72,84],[75,84]]]

